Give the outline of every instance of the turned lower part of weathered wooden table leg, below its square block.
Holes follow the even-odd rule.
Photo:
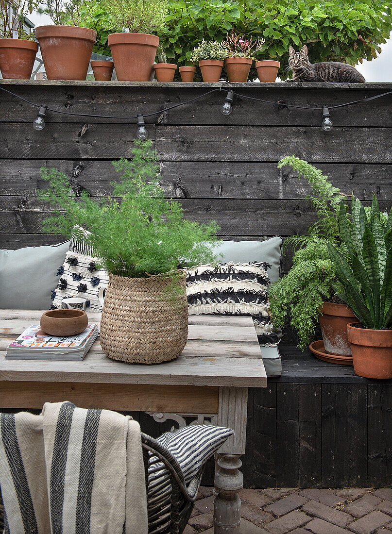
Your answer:
[[[214,534],[240,534],[241,500],[238,493],[244,486],[239,471],[239,454],[217,454],[215,472]]]

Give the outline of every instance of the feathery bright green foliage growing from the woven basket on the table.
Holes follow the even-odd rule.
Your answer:
[[[44,230],[69,236],[77,225],[91,232],[76,230],[76,237],[93,247],[108,272],[124,277],[174,272],[184,258],[186,265],[215,260],[205,242],[215,240],[218,227],[187,221],[181,205],[164,198],[151,141],[135,140],[132,160],[113,164],[122,180],[112,184],[113,196],[100,202],[87,192],[76,199],[62,172],[42,168],[49,190],[38,194],[54,207]]]

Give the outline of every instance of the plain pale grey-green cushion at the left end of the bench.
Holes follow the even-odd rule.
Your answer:
[[[58,245],[0,250],[0,308],[49,310],[57,269],[69,241]]]

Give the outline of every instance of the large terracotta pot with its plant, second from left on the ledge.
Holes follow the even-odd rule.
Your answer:
[[[54,24],[38,26],[36,36],[48,80],[85,80],[97,32],[80,26],[82,0],[46,0]]]

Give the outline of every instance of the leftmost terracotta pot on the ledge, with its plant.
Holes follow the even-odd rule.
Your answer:
[[[29,80],[38,51],[34,34],[27,33],[23,23],[28,13],[37,9],[33,0],[0,0],[0,70],[3,78]]]

